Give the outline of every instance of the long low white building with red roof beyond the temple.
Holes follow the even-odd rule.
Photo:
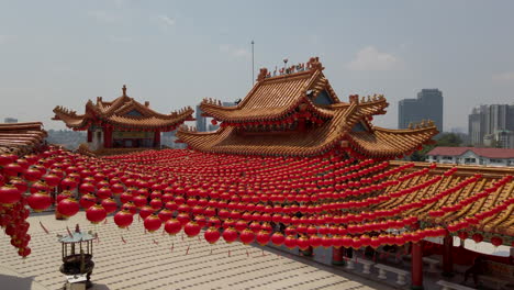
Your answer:
[[[514,167],[514,149],[435,147],[426,156],[429,163]]]

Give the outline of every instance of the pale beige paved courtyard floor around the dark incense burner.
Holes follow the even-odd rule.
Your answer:
[[[56,221],[49,213],[33,214],[29,222],[32,255],[26,259],[18,256],[7,235],[0,236],[2,290],[62,288],[65,277],[58,270],[62,253],[56,235],[66,234],[66,226],[72,231],[77,223],[99,233],[92,289],[390,289],[268,248],[224,242],[211,246],[203,237],[145,234],[137,220],[130,230],[118,228],[112,216],[94,226],[83,212],[69,221]]]

